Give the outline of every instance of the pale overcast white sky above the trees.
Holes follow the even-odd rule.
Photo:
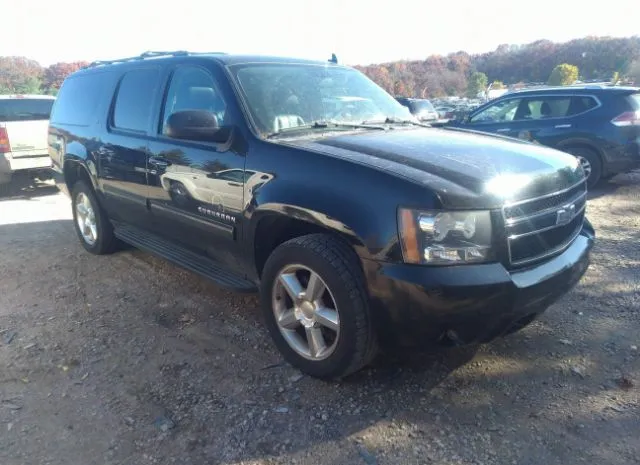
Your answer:
[[[0,0],[0,56],[48,66],[189,50],[320,60],[336,53],[349,65],[382,63],[539,39],[638,35],[637,2]]]

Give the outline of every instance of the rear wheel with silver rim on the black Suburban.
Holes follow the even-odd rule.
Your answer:
[[[71,194],[73,224],[82,246],[94,255],[104,255],[114,251],[116,239],[113,226],[98,200],[84,181],[73,186]]]

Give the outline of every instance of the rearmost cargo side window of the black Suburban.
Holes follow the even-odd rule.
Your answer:
[[[51,121],[86,126],[110,81],[109,73],[95,73],[66,79],[53,106]]]

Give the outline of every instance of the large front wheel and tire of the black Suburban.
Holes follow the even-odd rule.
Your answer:
[[[377,354],[364,276],[339,239],[312,234],[280,245],[265,264],[260,291],[275,345],[302,372],[342,378]]]

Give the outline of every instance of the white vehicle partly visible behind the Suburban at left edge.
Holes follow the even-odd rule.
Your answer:
[[[0,95],[0,194],[8,192],[14,173],[48,173],[49,115],[55,97]]]

